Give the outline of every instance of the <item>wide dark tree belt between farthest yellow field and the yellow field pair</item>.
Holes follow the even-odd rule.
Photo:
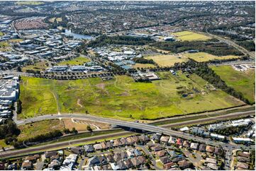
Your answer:
[[[216,56],[243,55],[237,49],[228,46],[224,42],[217,42],[215,39],[204,41],[184,41],[184,42],[155,42],[152,46],[158,49],[169,50],[174,53],[189,51],[191,49],[207,52]]]

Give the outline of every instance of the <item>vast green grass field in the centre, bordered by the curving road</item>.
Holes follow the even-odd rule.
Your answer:
[[[212,90],[211,85],[194,74],[190,78],[182,73],[158,74],[162,80],[152,83],[135,83],[128,76],[116,76],[110,81],[22,77],[23,112],[18,117],[87,111],[116,119],[157,119],[243,104],[221,90]]]

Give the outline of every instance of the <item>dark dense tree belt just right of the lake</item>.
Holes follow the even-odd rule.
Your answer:
[[[148,45],[155,40],[150,37],[133,37],[128,35],[117,35],[109,37],[102,35],[96,40],[89,42],[88,47],[103,47],[106,45]]]

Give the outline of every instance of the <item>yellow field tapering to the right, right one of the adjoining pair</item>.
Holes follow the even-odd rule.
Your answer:
[[[214,59],[222,60],[222,59],[239,59],[240,58],[240,56],[235,56],[235,55],[218,57],[213,54],[208,54],[206,52],[183,53],[182,56],[194,59],[195,61],[198,61],[198,62],[210,61],[210,60],[214,60]]]

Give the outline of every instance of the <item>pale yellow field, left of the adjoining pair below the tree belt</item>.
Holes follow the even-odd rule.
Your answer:
[[[187,61],[187,57],[178,57],[174,54],[160,54],[145,57],[146,59],[153,59],[159,66],[174,66],[177,62]]]

